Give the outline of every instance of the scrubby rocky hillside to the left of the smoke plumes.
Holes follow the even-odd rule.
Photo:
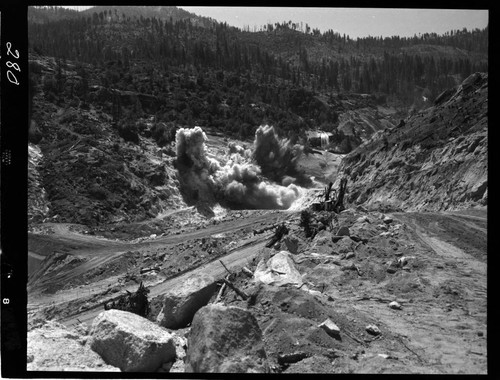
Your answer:
[[[43,84],[34,95],[30,131],[30,223],[133,222],[186,207],[172,165],[175,153],[152,136],[166,133],[164,124],[145,115],[117,125],[105,100],[92,101],[101,95],[98,86],[89,89],[89,102],[51,98],[47,75],[56,63],[37,57],[32,64]],[[63,75],[65,86],[79,88],[74,66]]]

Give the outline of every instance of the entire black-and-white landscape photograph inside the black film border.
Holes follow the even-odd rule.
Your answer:
[[[488,9],[26,9],[28,377],[488,374]]]

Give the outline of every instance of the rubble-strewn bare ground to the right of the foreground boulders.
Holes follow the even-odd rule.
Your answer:
[[[355,228],[358,223],[351,223],[359,215],[341,214],[339,223]],[[277,371],[486,373],[485,212],[393,217],[388,231],[380,220],[358,229],[379,233],[349,260],[346,254],[297,256],[304,279],[322,296],[295,289],[257,291],[253,308]],[[387,263],[402,257],[407,264],[387,272]],[[359,273],[347,269],[351,264]],[[229,303],[242,303],[231,296]],[[401,310],[389,308],[391,301]],[[340,339],[318,328],[326,318],[340,327]],[[368,334],[369,324],[381,335]],[[308,359],[280,366],[284,354]]]

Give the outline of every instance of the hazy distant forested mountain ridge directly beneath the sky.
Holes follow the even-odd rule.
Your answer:
[[[130,59],[237,75],[251,71],[312,91],[385,93],[406,105],[415,101],[417,87],[427,88],[424,96],[432,101],[488,68],[488,27],[352,40],[332,30],[321,33],[307,26],[304,31],[290,21],[247,32],[177,7],[100,6],[81,13],[30,7],[28,15],[30,42],[45,55],[123,61],[128,50]],[[49,21],[37,26],[40,19]]]

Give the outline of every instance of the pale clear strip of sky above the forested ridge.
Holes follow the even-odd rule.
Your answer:
[[[184,7],[188,12],[211,17],[250,30],[268,23],[307,23],[321,32],[332,29],[351,38],[366,36],[411,37],[419,33],[444,34],[450,30],[484,28],[488,10],[395,9],[395,8],[302,8],[302,7]],[[84,7],[80,7],[84,8]],[[87,7],[85,7],[87,8]]]

